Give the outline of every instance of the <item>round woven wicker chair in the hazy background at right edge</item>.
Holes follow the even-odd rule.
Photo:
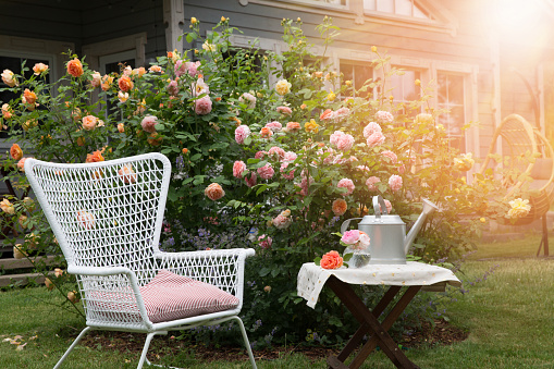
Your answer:
[[[496,153],[502,153],[502,163],[494,162]],[[502,177],[507,197],[522,192],[531,205],[529,214],[509,224],[529,224],[549,211],[554,201],[554,151],[546,137],[518,114],[506,116],[495,130],[480,172],[496,165],[510,173]]]

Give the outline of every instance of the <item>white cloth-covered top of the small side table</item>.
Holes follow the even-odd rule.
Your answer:
[[[298,296],[304,297],[307,305],[315,308],[319,294],[331,275],[349,284],[431,286],[443,282],[461,286],[461,282],[450,269],[416,261],[408,261],[405,265],[368,265],[362,268],[338,269],[323,269],[313,262],[307,262],[298,272]]]

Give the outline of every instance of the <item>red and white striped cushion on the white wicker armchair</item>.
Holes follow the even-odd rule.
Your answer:
[[[238,298],[211,284],[160,270],[140,287],[152,323],[234,309]]]

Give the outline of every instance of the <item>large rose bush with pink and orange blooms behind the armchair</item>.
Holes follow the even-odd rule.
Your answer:
[[[69,53],[67,74],[52,84],[44,79],[44,65],[35,65],[38,74],[28,79],[4,71],[2,79],[16,96],[2,101],[2,124],[15,142],[4,169],[26,190],[20,170],[29,155],[62,162],[149,151],[168,156],[173,172],[161,247],[257,247],[246,267],[243,309],[255,346],[301,342],[313,332],[325,343],[348,335],[353,322],[332,294],[321,294],[316,311],[301,304],[296,274],[304,262],[344,249],[330,235],[343,220],[368,213],[374,195],[386,198],[387,210],[408,225],[420,213],[421,198],[440,207],[410,258],[442,265],[473,247],[481,217],[528,211],[525,200],[508,205],[491,173],[466,181],[475,161],[452,148],[444,127],[435,124],[441,111],[429,107],[429,86],[415,82],[421,99],[407,104],[383,95],[368,99],[368,90],[402,71],[392,67],[355,90],[332,65],[322,65],[324,56],[311,53],[300,21],[283,21],[288,48],[273,54],[233,47],[235,29],[227,19],[206,38],[193,20],[186,40],[202,48],[169,51],[148,69],[123,65],[120,73],[101,76],[85,58]],[[329,17],[317,29],[324,46],[338,32]],[[389,58],[377,51],[371,63],[384,71]],[[270,67],[274,64],[281,69]],[[278,81],[273,86],[270,77]],[[406,114],[423,107],[424,113]],[[135,179],[132,168],[120,175],[126,183]],[[15,220],[26,217],[22,223],[40,235],[41,251],[56,254],[40,212],[30,210],[28,200],[5,200],[2,211]],[[79,216],[83,226],[94,226],[90,216]],[[357,236],[347,239],[366,246]],[[35,238],[28,237],[22,251]],[[338,257],[325,265],[337,267]],[[73,290],[67,286],[64,295]],[[382,293],[359,290],[368,303]],[[435,306],[427,304],[428,295],[417,298],[426,304],[411,305],[406,324],[429,317]]]

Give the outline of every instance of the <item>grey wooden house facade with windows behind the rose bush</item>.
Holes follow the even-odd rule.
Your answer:
[[[415,79],[435,86],[430,106],[450,110],[440,122],[461,151],[485,156],[494,127],[509,113],[551,135],[554,8],[546,1],[24,0],[0,1],[0,9],[1,69],[16,71],[25,59],[42,61],[53,79],[64,73],[62,52],[69,50],[108,73],[119,62],[139,66],[167,50],[194,49],[198,45],[177,39],[193,16],[202,33],[229,17],[243,32],[233,37],[236,46],[256,42],[276,52],[285,47],[281,21],[300,17],[322,54],[316,26],[328,15],[341,35],[325,50],[325,63],[360,86],[382,73],[370,63],[377,46],[391,65],[405,71],[386,82],[396,101],[418,96]],[[463,131],[470,121],[479,125]]]

